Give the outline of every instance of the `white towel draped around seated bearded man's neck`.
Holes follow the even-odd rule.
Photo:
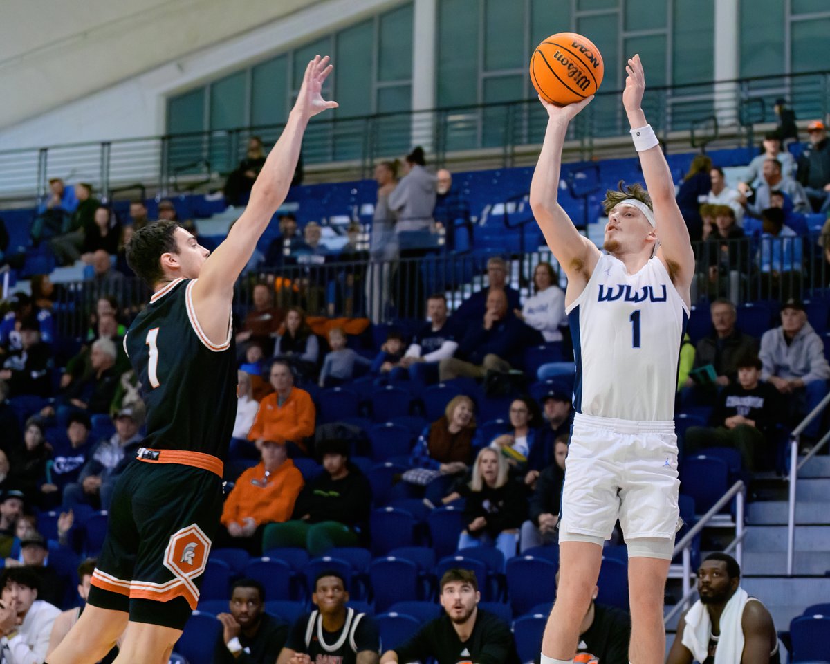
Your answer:
[[[744,652],[744,606],[749,595],[744,588],[739,588],[732,595],[720,614],[720,637],[715,652],[715,664],[740,664]],[[709,656],[709,639],[712,634],[712,622],[706,606],[697,600],[686,613],[686,627],[683,629],[683,645],[698,662]]]

